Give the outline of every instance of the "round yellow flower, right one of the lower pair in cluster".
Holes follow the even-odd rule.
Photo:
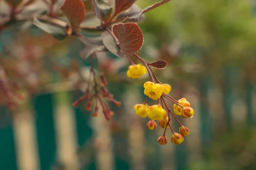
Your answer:
[[[161,105],[152,105],[148,109],[148,117],[152,120],[161,120],[166,118],[166,111]]]

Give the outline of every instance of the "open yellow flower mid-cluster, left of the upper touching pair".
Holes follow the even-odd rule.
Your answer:
[[[144,88],[144,94],[154,100],[159,99],[163,94],[163,87],[158,83],[154,84],[154,82],[145,82]]]

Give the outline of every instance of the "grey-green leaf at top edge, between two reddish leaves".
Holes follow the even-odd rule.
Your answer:
[[[93,0],[93,12],[100,20],[108,20],[113,8],[105,0]]]

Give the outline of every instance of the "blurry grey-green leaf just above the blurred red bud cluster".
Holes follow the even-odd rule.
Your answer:
[[[93,37],[88,39],[85,39],[84,37],[79,37],[79,39],[84,44],[83,50],[80,51],[80,56],[83,59],[87,59],[87,57],[89,57],[96,51],[107,51],[102,42],[102,37]]]

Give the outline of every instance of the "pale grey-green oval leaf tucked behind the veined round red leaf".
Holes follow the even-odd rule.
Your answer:
[[[107,30],[102,33],[102,41],[108,51],[118,57],[123,57],[123,54],[120,51],[120,47],[116,45],[114,38]]]

